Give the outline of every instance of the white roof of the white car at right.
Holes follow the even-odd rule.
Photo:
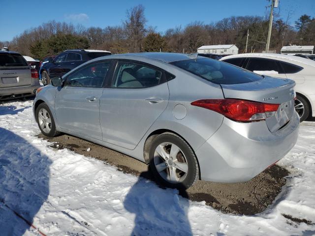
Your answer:
[[[226,59],[232,59],[232,58],[266,58],[266,59],[278,59],[284,62],[289,62],[292,64],[304,64],[304,65],[310,65],[315,67],[315,61],[301,58],[293,55],[286,55],[286,54],[273,54],[273,53],[243,53],[243,54],[236,54],[236,55],[230,55],[226,56],[224,58],[221,58],[220,60],[226,60]]]

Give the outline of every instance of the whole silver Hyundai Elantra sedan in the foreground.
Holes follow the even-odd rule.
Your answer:
[[[90,60],[37,92],[41,132],[68,133],[150,163],[157,180],[256,176],[295,145],[294,81],[174,53]]]

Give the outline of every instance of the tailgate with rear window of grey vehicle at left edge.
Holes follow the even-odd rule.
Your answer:
[[[0,88],[29,86],[31,68],[19,54],[0,53]]]

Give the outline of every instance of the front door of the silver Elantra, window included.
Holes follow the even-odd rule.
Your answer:
[[[101,140],[99,98],[110,65],[109,60],[90,63],[65,78],[55,99],[56,117],[61,128]]]

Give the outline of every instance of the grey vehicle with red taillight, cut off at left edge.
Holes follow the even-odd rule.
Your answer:
[[[38,73],[21,54],[0,51],[0,100],[35,95]]]

